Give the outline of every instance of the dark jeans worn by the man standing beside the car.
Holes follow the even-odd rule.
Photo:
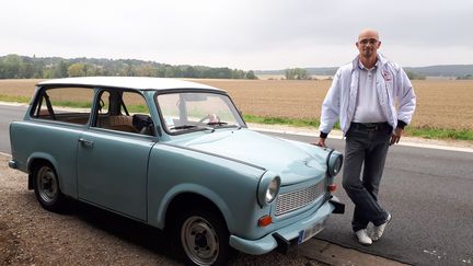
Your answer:
[[[388,124],[378,128],[351,124],[346,135],[343,187],[355,204],[355,232],[366,229],[369,222],[378,227],[388,219],[388,212],[378,203],[378,190],[391,130]]]

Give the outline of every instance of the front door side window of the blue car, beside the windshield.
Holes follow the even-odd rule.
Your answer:
[[[94,127],[153,136],[153,123],[145,97],[138,92],[104,90],[99,96]]]

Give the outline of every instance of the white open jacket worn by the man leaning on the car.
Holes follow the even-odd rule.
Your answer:
[[[393,127],[397,120],[409,124],[416,106],[416,95],[411,81],[404,70],[396,63],[389,61],[378,54],[378,71],[376,72],[376,88],[388,123]],[[348,131],[353,122],[356,107],[356,99],[359,86],[358,67],[359,58],[341,67],[334,76],[332,86],[322,104],[320,131],[328,134],[334,124],[339,119],[344,135]],[[395,107],[397,103],[397,109]]]

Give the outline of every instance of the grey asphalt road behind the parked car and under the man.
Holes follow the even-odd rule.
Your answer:
[[[0,152],[10,153],[8,125],[23,115],[24,107],[0,105]],[[344,150],[343,140],[330,139],[327,144]],[[392,147],[379,199],[393,220],[383,239],[368,247],[351,232],[353,205],[341,176],[335,194],[346,204],[346,213],[332,216],[316,238],[414,265],[473,265],[473,153]]]

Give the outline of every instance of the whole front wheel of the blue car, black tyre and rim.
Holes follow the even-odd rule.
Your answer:
[[[203,209],[183,212],[177,217],[173,239],[185,265],[227,265],[231,247],[223,220]]]

